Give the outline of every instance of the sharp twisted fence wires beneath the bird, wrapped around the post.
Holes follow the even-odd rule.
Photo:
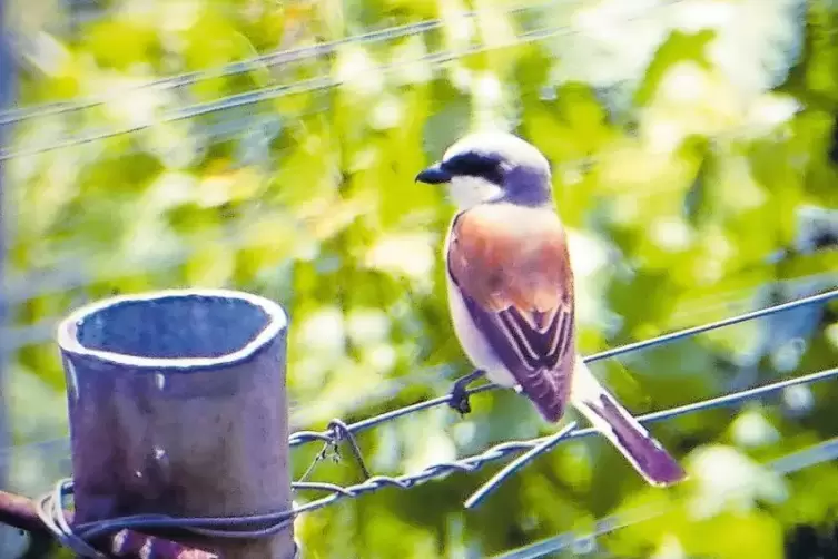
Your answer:
[[[815,303],[825,303],[829,300],[838,297],[838,290],[834,290],[828,293],[815,295],[811,297],[801,298],[791,303],[781,305],[775,305],[769,308],[763,308],[752,313],[747,313],[740,316],[726,318],[712,324],[698,326],[694,328],[688,328],[671,334],[666,334],[653,340],[647,340],[635,344],[628,344],[614,350],[601,352],[597,355],[591,355],[585,359],[586,362],[599,361],[607,357],[613,357],[620,354],[624,354],[632,351],[639,351],[641,349],[653,347],[662,343],[672,342],[678,339],[687,336],[693,336],[700,333],[704,333],[714,328],[729,326],[732,324],[741,323],[748,320],[755,320],[769,314],[788,311],[791,308],[800,307],[802,305],[810,305]],[[838,376],[838,367],[827,369],[817,373],[807,374],[796,379],[788,379],[771,384],[726,394],[718,398],[702,400],[691,404],[671,408],[660,412],[648,413],[638,418],[641,423],[650,423],[655,421],[668,420],[677,418],[688,413],[696,413],[699,411],[710,410],[724,405],[738,404],[748,400],[752,400],[759,396],[763,396],[769,393],[781,391],[786,388],[793,385],[810,384],[828,379]],[[469,390],[470,394],[484,392],[495,389],[494,385],[483,385],[476,389]],[[289,447],[297,447],[309,442],[324,442],[334,444],[341,437],[348,434],[357,434],[358,432],[375,428],[382,423],[393,421],[404,415],[416,413],[428,408],[436,405],[444,405],[451,401],[451,396],[442,396],[427,402],[421,402],[414,405],[405,406],[402,409],[393,410],[374,418],[358,421],[352,424],[345,424],[343,422],[333,421],[331,429],[326,431],[299,431],[290,435]],[[329,494],[319,499],[312,500],[305,504],[294,508],[293,510],[278,511],[267,514],[256,514],[249,517],[235,517],[235,518],[171,518],[165,514],[142,514],[135,517],[118,518],[112,520],[106,520],[101,522],[89,522],[70,529],[67,526],[66,520],[62,520],[63,514],[63,500],[72,491],[71,480],[62,480],[57,486],[52,493],[45,496],[39,501],[41,513],[46,517],[53,516],[48,526],[52,530],[57,530],[57,537],[63,538],[70,545],[77,545],[72,542],[72,538],[80,538],[81,540],[89,540],[98,536],[128,529],[164,529],[164,528],[178,528],[201,533],[205,536],[224,537],[224,538],[258,538],[274,535],[285,529],[288,522],[303,512],[316,510],[328,504],[335,503],[345,498],[356,498],[369,492],[377,491],[387,487],[395,487],[400,489],[411,489],[418,484],[425,483],[433,479],[441,479],[457,472],[474,472],[480,470],[485,464],[502,459],[510,458],[514,454],[525,452],[523,460],[519,459],[513,462],[512,468],[506,468],[496,475],[494,479],[495,484],[503,481],[505,477],[511,474],[517,465],[521,465],[524,461],[536,458],[540,453],[548,451],[554,447],[560,440],[578,439],[581,437],[588,437],[595,433],[592,428],[576,429],[568,428],[561,431],[559,434],[552,434],[548,437],[531,439],[526,441],[507,441],[501,444],[496,444],[485,452],[480,454],[466,457],[455,461],[446,461],[436,463],[425,468],[417,473],[402,474],[398,477],[387,475],[373,475],[365,481],[349,486],[342,487],[334,483],[326,482],[296,482],[293,483],[295,490],[316,490],[327,491]],[[529,451],[529,452],[528,452]],[[363,462],[362,462],[363,463]],[[365,467],[364,467],[365,468]],[[263,528],[252,528],[253,526],[263,526]],[[265,526],[267,524],[267,526]],[[78,547],[78,546],[77,546]]]

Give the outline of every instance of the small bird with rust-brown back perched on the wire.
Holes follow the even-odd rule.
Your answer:
[[[472,131],[415,182],[446,185],[456,206],[445,282],[454,333],[475,370],[454,383],[450,405],[469,413],[467,386],[486,377],[526,396],[550,423],[572,405],[651,486],[687,479],[576,350],[568,236],[544,155],[512,133]]]

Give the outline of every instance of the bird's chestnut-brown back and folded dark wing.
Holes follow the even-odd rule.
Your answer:
[[[551,208],[477,206],[452,224],[448,273],[497,357],[549,421],[568,402],[575,354],[573,275]]]

